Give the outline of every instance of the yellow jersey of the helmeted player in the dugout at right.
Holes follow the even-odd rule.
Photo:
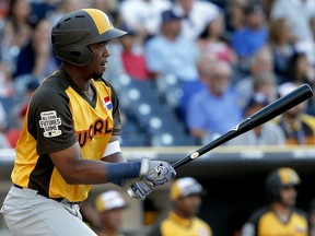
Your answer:
[[[304,212],[292,210],[289,220],[283,222],[270,208],[253,214],[245,224],[242,236],[307,236],[308,221]]]

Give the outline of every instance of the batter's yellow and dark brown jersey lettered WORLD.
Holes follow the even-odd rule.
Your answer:
[[[51,199],[83,201],[92,186],[68,185],[49,153],[62,151],[77,141],[82,158],[101,161],[112,134],[120,134],[119,102],[113,86],[91,79],[95,96],[91,102],[60,69],[48,76],[33,94],[11,175],[21,187],[37,190]]]

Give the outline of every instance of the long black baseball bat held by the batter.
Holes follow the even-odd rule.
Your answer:
[[[292,107],[296,106],[298,104],[306,101],[307,98],[313,96],[313,91],[308,84],[303,84],[296,90],[292,91],[291,93],[287,94],[278,98],[277,101],[272,102],[271,104],[265,106],[264,108],[259,109],[252,116],[247,117],[241,123],[235,126],[233,129],[228,131],[226,133],[222,134],[218,139],[213,140],[212,142],[203,145],[202,148],[196,150],[190,155],[183,157],[182,160],[175,162],[172,166],[176,169],[198,157],[203,155],[205,153],[215,149],[217,146],[234,139],[235,137],[241,135],[248,130],[267,122],[275,117],[279,116],[280,114],[284,113],[285,110],[291,109]]]

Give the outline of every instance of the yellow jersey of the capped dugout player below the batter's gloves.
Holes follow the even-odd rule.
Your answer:
[[[199,217],[183,219],[175,212],[170,212],[156,227],[151,236],[211,236],[211,227]]]

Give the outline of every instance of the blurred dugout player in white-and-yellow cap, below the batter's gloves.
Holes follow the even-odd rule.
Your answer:
[[[175,180],[170,199],[173,210],[153,227],[150,236],[211,236],[209,224],[197,216],[201,205],[202,186],[191,177]]]

